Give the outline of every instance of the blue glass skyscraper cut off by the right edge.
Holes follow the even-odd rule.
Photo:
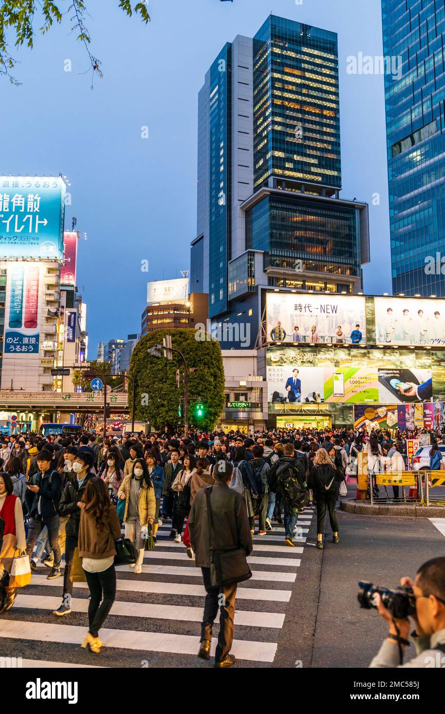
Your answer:
[[[444,0],[382,0],[381,6],[393,291],[443,297]]]

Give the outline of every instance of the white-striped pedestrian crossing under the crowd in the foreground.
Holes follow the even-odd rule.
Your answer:
[[[254,535],[248,558],[252,578],[240,583],[236,594],[231,652],[240,666],[273,665],[313,517],[312,512],[300,516],[294,548],[285,545],[284,528],[276,523],[266,535]],[[14,608],[2,615],[0,653],[21,649],[23,666],[39,668],[140,667],[151,660],[156,660],[154,666],[177,666],[178,655],[186,658],[182,666],[208,666],[196,658],[205,597],[201,569],[182,543],[169,539],[170,531],[169,523],[159,528],[156,547],[144,553],[141,575],[127,565],[116,568],[116,600],[100,631],[104,649],[99,657],[79,647],[88,623],[86,583],[74,584],[71,614],[57,618],[52,611],[61,604],[63,583],[62,578],[46,580],[47,568],[33,573],[31,585],[19,591]],[[218,629],[216,620],[212,654]]]

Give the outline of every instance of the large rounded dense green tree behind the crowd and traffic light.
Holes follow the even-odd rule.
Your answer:
[[[189,368],[189,426],[211,430],[224,408],[224,366],[221,347],[217,341],[198,342],[195,331],[174,329],[156,330],[143,337],[131,356],[130,375],[136,377],[136,418],[148,421],[155,428],[169,428],[184,424],[178,416],[180,401],[184,405],[184,367],[178,354],[173,359],[152,357],[148,350],[162,344],[171,334],[172,347],[179,349]],[[176,370],[180,373],[180,386],[176,384]],[[204,404],[204,417],[194,417],[194,406]],[[147,403],[148,402],[148,403]]]

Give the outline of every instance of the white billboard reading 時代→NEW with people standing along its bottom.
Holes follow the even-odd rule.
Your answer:
[[[365,345],[366,301],[330,293],[267,293],[266,323],[269,342]]]

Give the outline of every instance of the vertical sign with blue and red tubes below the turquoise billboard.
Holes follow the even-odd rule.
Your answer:
[[[12,263],[6,275],[4,354],[39,353],[41,266]]]

